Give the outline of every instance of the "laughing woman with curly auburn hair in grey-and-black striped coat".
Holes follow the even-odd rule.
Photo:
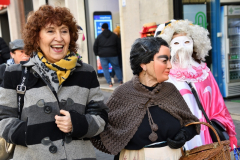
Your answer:
[[[89,139],[104,130],[108,108],[77,39],[67,8],[30,13],[23,40],[31,58],[7,67],[0,87],[0,137],[16,144],[14,160],[96,159]]]

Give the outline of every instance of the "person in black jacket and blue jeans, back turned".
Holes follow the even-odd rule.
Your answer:
[[[118,36],[108,29],[107,23],[103,23],[102,33],[97,37],[93,50],[95,55],[100,57],[103,74],[109,87],[113,86],[109,73],[109,63],[112,65],[118,81],[122,84],[122,71],[118,62],[118,54],[121,54],[120,43]]]

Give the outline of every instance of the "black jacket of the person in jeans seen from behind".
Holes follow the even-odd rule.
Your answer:
[[[105,29],[94,42],[93,50],[99,57],[115,57],[121,54],[121,46],[118,36]]]

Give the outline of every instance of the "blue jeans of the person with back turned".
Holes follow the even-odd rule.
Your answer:
[[[103,75],[107,80],[107,83],[109,84],[111,82],[110,78],[110,73],[109,73],[109,68],[108,64],[110,63],[116,73],[116,76],[118,78],[118,81],[122,81],[122,71],[121,68],[119,67],[118,63],[118,57],[100,57],[100,62],[103,68]]]

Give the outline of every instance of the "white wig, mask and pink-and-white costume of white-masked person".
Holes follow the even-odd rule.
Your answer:
[[[179,67],[175,61],[176,59],[173,58],[173,68],[170,71],[168,82],[171,82],[176,86],[193,115],[195,115],[201,122],[206,122],[206,119],[199,110],[194,95],[187,84],[191,83],[197,91],[198,97],[209,119],[216,119],[226,127],[232,146],[233,143],[237,143],[235,126],[224,103],[218,85],[206,63],[197,63],[192,58],[192,54],[195,53],[197,59],[201,61],[205,60],[208,51],[211,49],[210,39],[208,38],[209,33],[206,29],[198,25],[193,25],[188,20],[171,20],[165,24],[159,25],[155,36],[163,38],[168,44],[170,44],[172,57],[174,57],[176,44],[181,44],[181,40],[174,40],[175,38],[172,39],[173,35],[176,33],[185,33],[185,38],[192,39],[191,59],[185,58],[184,61],[188,64],[186,64],[185,67]],[[174,41],[176,42],[173,43]],[[191,40],[185,40],[185,42],[191,43]],[[182,45],[183,48],[185,47],[184,45],[186,44]],[[180,49],[180,46],[177,46],[177,49],[177,51],[180,51],[182,48]],[[175,53],[177,53],[177,51],[175,50]],[[192,140],[188,141],[185,144],[185,148],[189,150],[209,143],[212,143],[209,129],[202,125],[200,135],[197,135]]]

